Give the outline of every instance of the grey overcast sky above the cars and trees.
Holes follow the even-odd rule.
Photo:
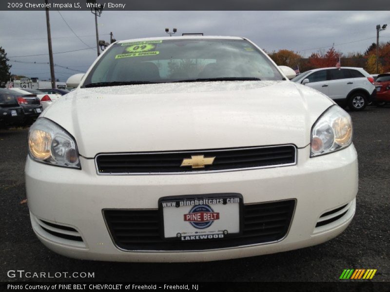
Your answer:
[[[54,63],[85,72],[97,57],[95,19],[90,11],[50,11]],[[109,41],[113,32],[117,40],[166,36],[165,27],[177,28],[176,35],[199,33],[217,36],[241,36],[253,40],[271,52],[280,49],[296,51],[304,57],[334,43],[336,50],[363,53],[376,42],[376,25],[389,24],[380,33],[380,41],[390,41],[388,11],[103,11],[98,18],[99,38]],[[12,62],[11,73],[50,78],[46,18],[44,11],[0,11],[0,46]],[[87,49],[87,46],[94,49]],[[55,67],[60,81],[78,71]]]

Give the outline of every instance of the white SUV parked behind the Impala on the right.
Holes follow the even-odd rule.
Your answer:
[[[363,68],[319,68],[306,71],[292,79],[329,96],[350,110],[364,110],[375,98],[374,78]]]

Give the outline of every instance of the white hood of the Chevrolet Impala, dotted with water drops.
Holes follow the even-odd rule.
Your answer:
[[[42,116],[71,133],[80,155],[310,143],[333,102],[290,81],[143,84],[78,89]]]

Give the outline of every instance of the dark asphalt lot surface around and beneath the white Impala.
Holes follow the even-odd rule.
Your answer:
[[[390,281],[390,107],[350,113],[359,193],[347,230],[309,248],[208,263],[82,261],[51,252],[34,235],[23,203],[28,129],[0,130],[0,281],[36,280],[10,279],[8,270],[95,272],[90,280],[98,281],[338,281],[346,268],[377,269],[374,281]]]

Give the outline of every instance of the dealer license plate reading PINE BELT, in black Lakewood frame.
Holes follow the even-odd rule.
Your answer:
[[[158,201],[162,237],[176,240],[215,240],[239,235],[240,194],[164,197]]]

